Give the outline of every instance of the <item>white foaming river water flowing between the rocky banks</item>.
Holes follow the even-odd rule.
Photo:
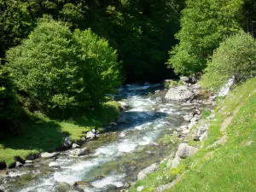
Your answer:
[[[71,158],[61,154],[55,160],[61,168],[49,168],[53,160],[46,160],[33,168],[23,167],[10,173],[13,181],[9,179],[9,191],[48,192],[54,191],[56,182],[73,185],[78,181],[87,183],[84,191],[119,191],[126,182],[135,182],[143,168],[172,153],[172,148],[158,143],[159,138],[186,123],[183,115],[195,108],[166,102],[166,90],[154,93],[159,89],[139,85],[119,88],[119,97],[131,107],[120,115],[130,124],[119,125],[98,140],[85,143],[94,146],[89,155]]]

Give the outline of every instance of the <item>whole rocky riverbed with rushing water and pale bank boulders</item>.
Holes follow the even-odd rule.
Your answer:
[[[161,84],[120,87],[113,97],[120,99],[123,111],[106,127],[107,132],[91,131],[83,138],[90,142],[79,146],[67,138],[69,149],[41,154],[42,158],[23,162],[24,166],[1,171],[0,186],[22,192],[128,189],[145,167],[160,163],[172,153],[172,148],[158,140],[175,130],[185,138],[189,126],[200,119],[201,110],[211,106],[211,101],[198,98],[198,91],[196,85],[189,90],[184,86],[169,90],[167,95]]]

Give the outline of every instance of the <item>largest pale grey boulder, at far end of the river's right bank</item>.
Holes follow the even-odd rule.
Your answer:
[[[187,86],[172,87],[168,90],[165,98],[166,100],[188,101],[195,98],[195,92]]]

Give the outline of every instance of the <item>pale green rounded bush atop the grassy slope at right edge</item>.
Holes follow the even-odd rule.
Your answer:
[[[208,61],[201,85],[207,90],[218,90],[230,77],[236,83],[255,74],[256,42],[246,32],[227,38]]]

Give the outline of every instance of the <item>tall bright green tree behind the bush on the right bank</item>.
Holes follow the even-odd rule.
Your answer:
[[[179,40],[168,66],[175,73],[201,73],[218,44],[240,28],[242,0],[189,0],[182,11]]]

